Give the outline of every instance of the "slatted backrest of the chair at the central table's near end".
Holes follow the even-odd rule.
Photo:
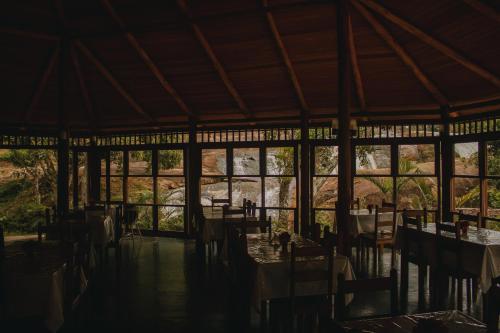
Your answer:
[[[325,265],[307,265],[306,268],[299,267],[298,258],[311,261],[318,257],[324,257]],[[290,304],[292,309],[295,304],[296,288],[298,283],[326,283],[327,289],[324,293],[327,304],[331,306],[333,295],[333,252],[323,246],[298,247],[295,242],[291,244],[290,256]]]

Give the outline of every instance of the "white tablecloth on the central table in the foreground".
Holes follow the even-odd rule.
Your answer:
[[[302,243],[312,242],[301,237],[292,239],[299,246]],[[302,245],[304,245],[302,244]],[[253,292],[253,304],[260,307],[261,301],[286,298],[289,296],[290,280],[290,252],[282,252],[281,246],[274,247],[269,244],[267,235],[248,235],[248,255],[256,265],[255,286]],[[310,260],[302,262],[301,265],[316,266],[325,265],[325,260]],[[299,268],[302,269],[302,268]],[[355,279],[354,270],[348,258],[336,256],[333,266],[333,289],[337,289],[337,277],[343,273],[346,280]],[[298,296],[317,295],[326,291],[326,283],[305,283],[297,288]],[[352,301],[352,295],[346,296],[346,303]]]

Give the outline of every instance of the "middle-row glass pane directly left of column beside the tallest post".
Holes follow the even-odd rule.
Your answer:
[[[265,182],[266,207],[296,207],[295,177],[266,177]]]

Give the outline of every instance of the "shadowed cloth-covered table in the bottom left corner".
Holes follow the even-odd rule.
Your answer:
[[[4,318],[39,318],[50,332],[64,323],[64,275],[68,249],[59,241],[15,241],[1,260]],[[87,280],[80,272],[80,287]]]

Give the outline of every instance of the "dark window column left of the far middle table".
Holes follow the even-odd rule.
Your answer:
[[[196,124],[190,122],[189,126],[189,144],[185,154],[187,156],[186,163],[186,190],[187,190],[187,223],[185,231],[186,235],[193,235],[197,230],[193,220],[196,219],[196,210],[200,203],[200,150],[196,142]]]

